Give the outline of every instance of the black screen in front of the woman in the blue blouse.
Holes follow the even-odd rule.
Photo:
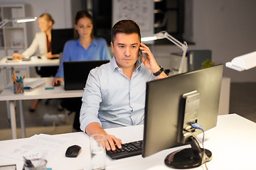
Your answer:
[[[85,87],[90,70],[107,62],[110,62],[110,60],[63,62],[64,89],[66,91],[82,90]]]

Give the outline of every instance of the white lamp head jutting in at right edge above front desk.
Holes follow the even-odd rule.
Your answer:
[[[239,72],[256,67],[256,51],[235,57],[231,62],[226,62],[225,66]]]

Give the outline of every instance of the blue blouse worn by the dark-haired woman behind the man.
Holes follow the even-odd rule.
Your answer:
[[[80,44],[80,40],[69,40],[65,43],[63,59],[61,60],[56,78],[64,76],[63,62],[89,61],[89,60],[110,60],[110,51],[107,42],[103,38],[93,39],[87,50]]]

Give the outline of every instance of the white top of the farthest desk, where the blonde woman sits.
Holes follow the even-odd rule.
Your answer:
[[[38,59],[37,56],[31,57],[30,61],[22,61],[18,60],[18,62],[6,62],[6,57],[0,60],[0,67],[41,67],[41,66],[58,66],[60,65],[59,59],[46,59],[46,57],[42,57]]]

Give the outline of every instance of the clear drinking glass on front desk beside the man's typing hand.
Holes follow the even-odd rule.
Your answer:
[[[106,138],[105,135],[90,136],[90,153],[92,170],[104,170],[106,168]]]

